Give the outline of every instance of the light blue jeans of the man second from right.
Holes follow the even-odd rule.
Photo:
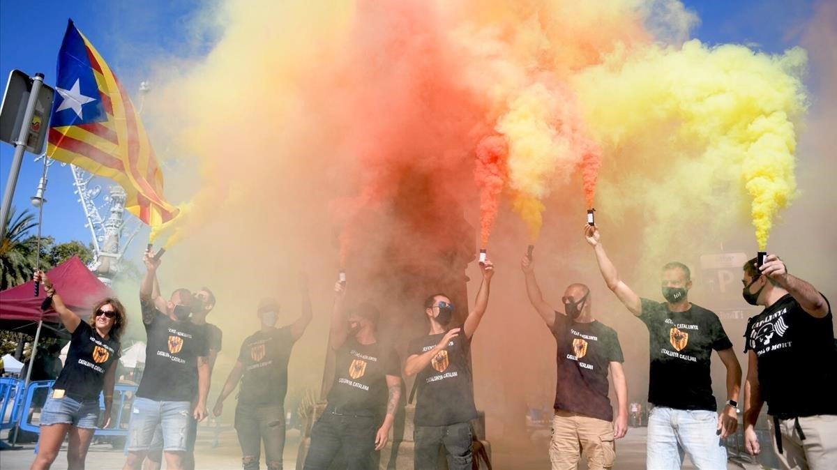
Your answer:
[[[648,417],[649,470],[679,469],[684,453],[699,470],[727,468],[727,447],[718,435],[715,411],[655,406]]]

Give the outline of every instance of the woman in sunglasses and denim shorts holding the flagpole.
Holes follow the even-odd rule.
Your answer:
[[[30,470],[49,468],[68,433],[68,468],[83,470],[87,449],[99,421],[99,394],[103,389],[105,419],[102,427],[110,424],[116,365],[121,351],[119,337],[126,326],[125,307],[117,299],[104,299],[93,308],[90,321],[85,322],[67,308],[43,271],[35,273],[35,282],[44,284],[47,298],[51,299],[72,339],[64,369],[41,411],[39,452]]]

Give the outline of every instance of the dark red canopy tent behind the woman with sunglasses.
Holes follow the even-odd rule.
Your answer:
[[[61,294],[64,304],[82,317],[90,314],[96,302],[114,295],[77,256],[50,269],[47,276]],[[34,281],[0,292],[0,330],[22,331],[37,327],[42,319],[41,304],[46,292],[40,289],[38,297],[34,296],[34,292]],[[51,308],[43,315],[43,320],[56,324],[60,322],[58,314]]]

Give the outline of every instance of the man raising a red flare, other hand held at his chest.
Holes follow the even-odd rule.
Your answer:
[[[449,470],[470,470],[473,442],[470,421],[477,417],[470,364],[470,342],[488,307],[494,265],[480,264],[482,283],[474,309],[465,323],[449,328],[454,304],[445,294],[424,301],[428,335],[410,341],[404,373],[416,375],[415,470],[438,468],[439,448],[444,447]]]

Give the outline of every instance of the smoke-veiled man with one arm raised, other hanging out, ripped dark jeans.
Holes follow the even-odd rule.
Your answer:
[[[242,465],[258,469],[261,445],[269,470],[281,470],[285,450],[285,394],[288,391],[290,350],[311,323],[311,296],[308,283],[300,278],[302,314],[292,324],[275,327],[280,311],[275,299],[262,299],[256,314],[261,329],[241,344],[239,360],[230,370],[213,413],[220,416],[223,401],[241,381],[239,403],[235,407],[235,431],[239,436]]]

